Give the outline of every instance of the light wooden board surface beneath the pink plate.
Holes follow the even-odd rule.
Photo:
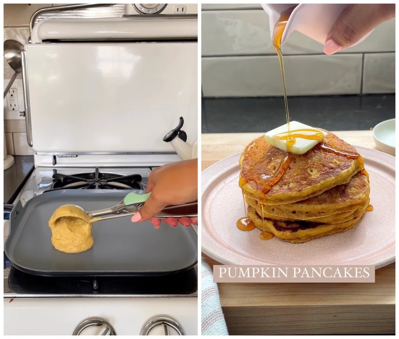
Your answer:
[[[370,130],[338,131],[352,145],[377,149]],[[260,133],[202,134],[202,170],[240,153]],[[220,264],[203,254],[211,265]],[[230,335],[393,334],[395,263],[375,283],[219,283]]]

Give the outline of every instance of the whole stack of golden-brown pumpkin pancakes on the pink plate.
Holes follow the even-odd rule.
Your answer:
[[[248,217],[260,230],[286,241],[345,232],[369,206],[362,156],[330,132],[301,155],[259,137],[242,152],[239,164]]]

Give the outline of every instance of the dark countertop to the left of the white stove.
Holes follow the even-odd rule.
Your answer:
[[[15,155],[14,161],[14,165],[4,171],[4,204],[12,204],[35,166],[32,155]]]

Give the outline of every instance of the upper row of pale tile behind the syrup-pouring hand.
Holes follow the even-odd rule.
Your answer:
[[[285,55],[323,54],[321,43],[293,32],[282,47]],[[395,51],[395,20],[377,27],[369,37],[343,53]],[[204,11],[202,55],[274,54],[269,16],[263,10]]]

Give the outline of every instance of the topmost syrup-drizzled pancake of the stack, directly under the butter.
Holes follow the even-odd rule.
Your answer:
[[[280,205],[348,183],[363,169],[363,159],[352,146],[327,133],[327,147],[318,144],[301,155],[273,147],[263,135],[255,139],[241,154],[239,186],[263,205]]]

